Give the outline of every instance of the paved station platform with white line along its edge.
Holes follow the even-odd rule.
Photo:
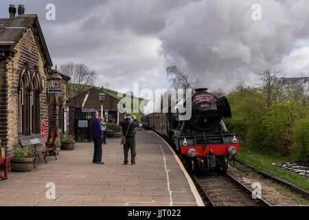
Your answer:
[[[136,165],[123,165],[120,139],[107,139],[104,165],[92,164],[93,142],[76,143],[58,159],[0,181],[0,206],[203,206],[194,184],[161,137],[137,132]],[[42,159],[43,160],[43,159]],[[130,157],[129,157],[130,162]],[[48,182],[56,199],[47,199]]]

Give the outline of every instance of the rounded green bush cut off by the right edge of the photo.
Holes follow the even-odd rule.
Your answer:
[[[309,119],[301,119],[293,127],[293,156],[296,162],[309,165]]]

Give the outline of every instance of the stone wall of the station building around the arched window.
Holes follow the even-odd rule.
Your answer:
[[[40,47],[34,37],[32,27],[28,28],[23,34],[20,41],[14,47],[17,53],[14,57],[9,57],[6,61],[0,61],[0,137],[2,146],[5,146],[5,153],[8,156],[14,155],[14,147],[19,146],[20,138],[34,138],[42,135],[42,122],[45,122],[45,134],[48,135],[48,97],[47,88],[49,87],[47,68],[44,66],[43,56],[41,55]],[[45,88],[40,94],[40,134],[30,136],[22,136],[19,128],[19,74],[25,63],[28,63],[30,72],[34,67],[38,68],[38,72],[45,79]],[[62,88],[66,91],[66,81],[62,83]],[[59,105],[56,102],[56,110],[51,111],[51,116],[62,114],[62,109],[65,107],[66,94],[62,94],[62,103]],[[53,120],[53,119],[52,119]],[[55,123],[58,123],[58,116],[55,118]],[[62,124],[59,124],[62,129]],[[40,147],[40,146],[38,146]]]

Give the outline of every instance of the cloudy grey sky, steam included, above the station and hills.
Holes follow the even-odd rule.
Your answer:
[[[10,3],[38,14],[54,65],[84,63],[99,87],[168,88],[170,65],[225,92],[266,68],[309,76],[308,0],[1,0],[0,17]]]

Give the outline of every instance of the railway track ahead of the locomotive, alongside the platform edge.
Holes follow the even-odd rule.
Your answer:
[[[215,172],[192,175],[206,206],[271,206],[253,199],[252,191],[231,174]]]

